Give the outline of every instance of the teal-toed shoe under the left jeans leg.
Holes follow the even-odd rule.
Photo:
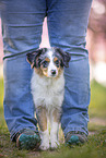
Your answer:
[[[38,148],[40,145],[40,137],[38,132],[32,130],[23,130],[16,134],[16,147],[19,149]]]

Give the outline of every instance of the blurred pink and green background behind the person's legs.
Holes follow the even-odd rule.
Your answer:
[[[46,19],[40,47],[49,47]],[[1,25],[1,20],[0,20]],[[91,105],[90,132],[106,127],[106,0],[93,0],[86,48],[90,52]],[[3,45],[0,27],[0,106],[3,107]],[[1,108],[3,109],[3,108]],[[0,112],[2,114],[2,111]],[[2,120],[1,120],[2,122]]]

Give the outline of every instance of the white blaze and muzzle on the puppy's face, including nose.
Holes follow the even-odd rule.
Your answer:
[[[54,52],[49,50],[47,52],[48,58],[50,59],[49,65],[48,65],[48,76],[57,76],[58,75],[58,69],[55,65],[54,62]]]

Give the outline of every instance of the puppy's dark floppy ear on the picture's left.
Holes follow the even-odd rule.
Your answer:
[[[40,49],[37,49],[33,52],[28,52],[26,56],[27,56],[27,61],[30,62],[30,64],[32,65],[32,69],[35,66],[35,68],[38,68],[40,66],[39,65],[39,56],[42,53],[45,53],[46,51],[46,48],[40,48]]]

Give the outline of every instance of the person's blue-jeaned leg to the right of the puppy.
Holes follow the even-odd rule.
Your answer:
[[[71,56],[69,68],[64,70],[66,93],[61,116],[67,141],[71,134],[89,134],[90,68],[85,36],[91,3],[92,0],[48,0],[50,45]],[[74,139],[78,142],[79,137],[73,136]]]

